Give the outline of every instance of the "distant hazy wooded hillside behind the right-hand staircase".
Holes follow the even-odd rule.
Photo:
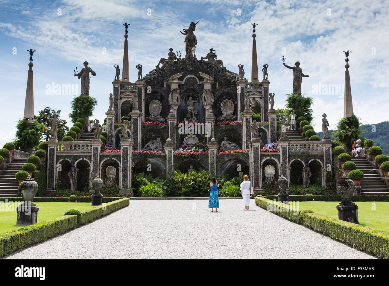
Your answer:
[[[362,136],[368,139],[372,139],[374,141],[374,145],[380,146],[382,148],[382,154],[389,154],[389,121],[383,121],[377,124],[362,125],[361,130]],[[335,132],[335,130],[328,131],[329,137],[333,139],[332,133]],[[319,136],[320,139],[323,139],[323,132],[317,132],[316,135]]]

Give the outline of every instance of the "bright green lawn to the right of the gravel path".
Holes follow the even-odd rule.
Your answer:
[[[299,202],[299,208],[338,218],[337,204],[338,202]],[[359,207],[358,220],[361,225],[389,232],[389,202],[356,202],[356,204]]]

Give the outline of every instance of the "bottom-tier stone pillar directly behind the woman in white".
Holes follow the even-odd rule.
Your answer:
[[[253,138],[249,141],[250,149],[250,178],[254,193],[262,193],[261,189],[261,144],[260,138]]]

